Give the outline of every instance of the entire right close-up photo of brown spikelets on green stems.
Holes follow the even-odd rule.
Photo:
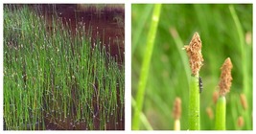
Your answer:
[[[132,130],[252,130],[252,4],[131,11]]]

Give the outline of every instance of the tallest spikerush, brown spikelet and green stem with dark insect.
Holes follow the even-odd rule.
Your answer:
[[[192,71],[189,89],[189,129],[200,129],[200,94],[199,94],[199,70],[202,66],[201,55],[201,40],[198,33],[193,35],[193,38],[188,46],[184,49],[189,56],[190,68]]]

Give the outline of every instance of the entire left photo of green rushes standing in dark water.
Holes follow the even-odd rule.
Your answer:
[[[4,130],[125,129],[125,5],[3,12]]]

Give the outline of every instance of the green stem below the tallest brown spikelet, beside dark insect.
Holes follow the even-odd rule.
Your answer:
[[[191,76],[189,91],[189,129],[200,129],[200,94],[198,75]]]

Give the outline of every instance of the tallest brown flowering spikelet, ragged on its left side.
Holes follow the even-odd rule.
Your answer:
[[[198,33],[194,33],[188,46],[184,46],[188,56],[192,75],[196,76],[202,66],[201,40]]]

